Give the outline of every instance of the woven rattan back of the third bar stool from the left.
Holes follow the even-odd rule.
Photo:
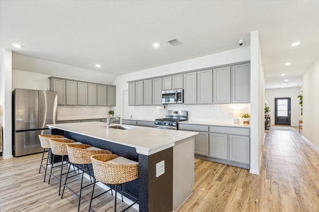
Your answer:
[[[91,162],[91,155],[94,154],[112,154],[112,151],[105,149],[86,149],[91,147],[89,144],[75,144],[69,143],[66,145],[69,160],[75,164],[89,164]]]

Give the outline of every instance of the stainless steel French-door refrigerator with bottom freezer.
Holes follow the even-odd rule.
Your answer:
[[[15,88],[12,91],[12,153],[42,152],[38,135],[57,123],[57,92]]]

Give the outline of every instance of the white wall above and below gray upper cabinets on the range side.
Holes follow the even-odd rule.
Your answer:
[[[178,73],[182,71],[191,71],[208,67],[220,66],[231,63],[238,63],[250,60],[250,47],[243,47],[226,52],[221,52],[213,55],[208,55],[200,58],[195,58],[187,61],[181,61],[165,66],[160,66],[134,73],[124,74],[119,76],[114,84],[117,86],[116,91],[116,107],[115,113],[123,113],[123,91],[128,90],[127,81],[138,80],[148,77],[156,77],[165,74]],[[189,120],[210,120],[233,122],[230,110],[242,109],[243,112],[250,112],[249,104],[239,105],[168,105],[167,110],[187,110],[189,111]],[[133,117],[139,118],[163,118],[165,110],[159,110],[156,106],[135,106],[133,107]]]

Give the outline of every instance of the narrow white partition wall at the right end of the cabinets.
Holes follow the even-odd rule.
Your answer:
[[[261,145],[264,140],[264,96],[265,78],[262,67],[261,49],[258,30],[250,33],[251,76],[250,76],[250,173],[259,174]]]

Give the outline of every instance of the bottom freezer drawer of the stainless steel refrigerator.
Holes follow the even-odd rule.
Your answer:
[[[40,134],[49,134],[49,130],[37,130],[15,133],[13,143],[14,156],[42,152],[43,148],[39,140]]]

